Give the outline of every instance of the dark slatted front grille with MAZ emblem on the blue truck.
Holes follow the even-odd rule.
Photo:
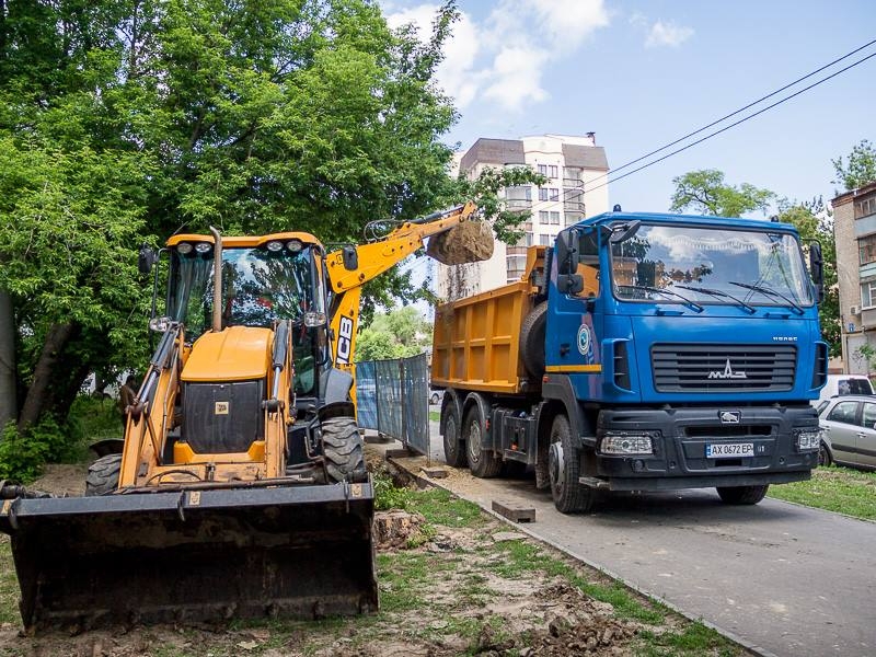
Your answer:
[[[794,345],[654,345],[658,392],[787,391],[794,388]]]

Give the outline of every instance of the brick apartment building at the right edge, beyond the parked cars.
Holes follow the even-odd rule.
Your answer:
[[[831,205],[843,369],[866,374],[872,368],[861,347],[876,349],[876,182],[840,194]]]

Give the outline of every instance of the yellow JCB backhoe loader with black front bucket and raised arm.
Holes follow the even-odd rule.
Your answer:
[[[92,464],[85,497],[8,487],[0,510],[25,630],[377,609],[351,366],[359,295],[433,235],[451,245],[429,245],[445,262],[482,258],[474,211],[333,253],[309,233],[216,229],[143,250],[155,281],[169,257],[166,312],[153,298],[161,338],[120,453]]]

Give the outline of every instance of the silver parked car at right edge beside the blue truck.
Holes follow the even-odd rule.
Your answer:
[[[876,470],[876,396],[833,397],[819,413],[820,464]]]

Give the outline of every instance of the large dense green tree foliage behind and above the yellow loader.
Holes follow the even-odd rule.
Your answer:
[[[89,371],[142,367],[141,242],[209,224],[357,242],[369,220],[447,203],[456,112],[433,76],[457,15],[442,5],[423,44],[369,0],[2,3],[0,293],[16,331],[0,358],[20,424],[62,420]]]

